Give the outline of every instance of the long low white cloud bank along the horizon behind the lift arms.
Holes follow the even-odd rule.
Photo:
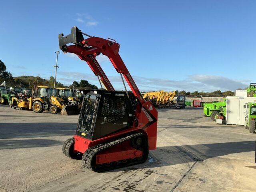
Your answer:
[[[98,79],[94,74],[86,74],[82,72],[60,72],[62,77],[59,80],[65,81],[65,84],[71,84],[74,80],[80,81],[81,79],[88,80],[90,83],[98,86]],[[133,76],[140,91],[153,91],[153,90],[185,90],[185,91],[204,91],[212,92],[215,90],[236,90],[237,88],[245,88],[250,83],[243,80],[232,80],[222,76],[208,76],[208,75],[191,75],[184,80],[169,80],[162,78],[147,78],[141,76]],[[108,79],[116,88],[116,90],[123,90],[123,84],[120,76],[108,76]],[[128,85],[126,84],[128,88]]]

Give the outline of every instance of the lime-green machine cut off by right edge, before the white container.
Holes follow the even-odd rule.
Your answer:
[[[244,105],[244,108],[246,106]],[[256,126],[256,103],[247,103],[244,128],[249,129],[250,133],[255,133]]]

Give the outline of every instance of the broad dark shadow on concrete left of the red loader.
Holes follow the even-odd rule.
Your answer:
[[[0,150],[62,145],[66,139],[45,137],[71,136],[75,132],[76,123],[0,123]]]

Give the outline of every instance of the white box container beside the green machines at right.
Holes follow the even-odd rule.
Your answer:
[[[244,125],[247,103],[255,103],[255,97],[226,97],[226,124]]]

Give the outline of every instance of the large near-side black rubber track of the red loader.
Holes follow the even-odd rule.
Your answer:
[[[109,166],[109,167],[102,167],[102,168],[100,167],[100,165],[98,167],[94,166],[94,163],[96,164],[96,162],[93,162],[93,161],[96,161],[96,155],[99,152],[102,152],[103,150],[111,148],[111,147],[118,145],[122,142],[132,140],[133,138],[136,138],[139,136],[145,136],[145,135],[142,133],[136,133],[136,134],[132,134],[132,135],[120,138],[118,140],[107,142],[105,144],[98,144],[96,146],[92,146],[92,147],[88,148],[86,150],[86,152],[84,152],[84,155],[82,158],[84,168],[88,168],[95,172],[102,172],[102,171],[112,170],[112,169],[116,169],[116,168],[126,167],[126,166],[145,162],[145,160],[148,158],[148,141],[147,140],[146,140],[147,147],[146,147],[146,150],[144,150],[144,152],[146,152],[146,159],[144,159],[144,160],[138,160],[137,162],[130,162],[128,164],[119,164],[116,166]],[[145,154],[143,153],[143,155],[145,155]]]

